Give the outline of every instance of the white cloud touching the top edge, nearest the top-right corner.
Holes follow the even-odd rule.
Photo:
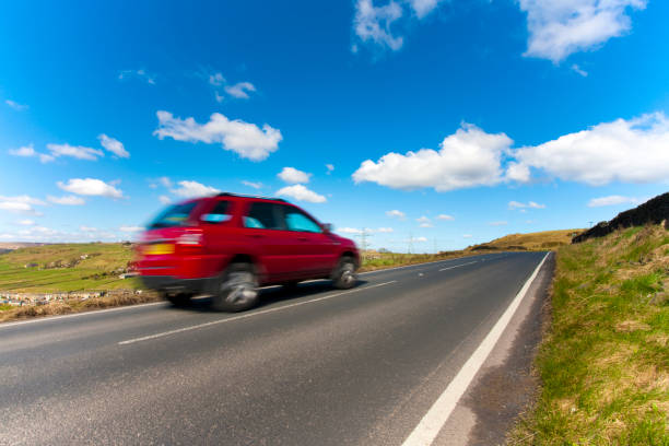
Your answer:
[[[629,9],[646,0],[519,0],[529,31],[526,56],[558,63],[573,52],[595,48],[631,28]]]

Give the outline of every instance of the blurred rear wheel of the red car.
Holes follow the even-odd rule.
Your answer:
[[[250,263],[233,263],[219,280],[211,305],[221,312],[244,312],[258,303],[258,277]]]

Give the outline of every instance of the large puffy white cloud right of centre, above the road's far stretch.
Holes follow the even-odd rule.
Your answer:
[[[355,183],[372,181],[394,189],[432,187],[437,191],[501,183],[502,155],[513,141],[505,133],[491,134],[462,124],[444,139],[441,150],[387,153],[375,163],[363,162],[353,174]]]

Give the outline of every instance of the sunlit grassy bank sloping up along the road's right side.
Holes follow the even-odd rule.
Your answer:
[[[669,232],[558,250],[541,389],[512,444],[669,445]]]

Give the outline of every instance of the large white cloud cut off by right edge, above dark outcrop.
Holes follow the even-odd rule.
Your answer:
[[[515,151],[526,168],[563,180],[600,186],[669,178],[669,120],[661,113],[599,124],[537,146]]]

